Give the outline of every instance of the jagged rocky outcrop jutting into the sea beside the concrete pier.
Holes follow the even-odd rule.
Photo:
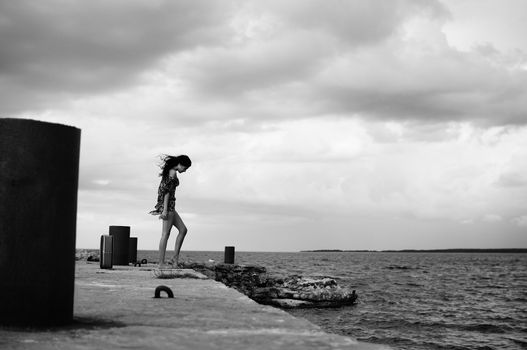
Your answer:
[[[357,300],[355,290],[342,288],[334,278],[326,276],[270,276],[259,265],[210,262],[182,262],[181,265],[235,288],[261,304],[282,308],[339,307]]]

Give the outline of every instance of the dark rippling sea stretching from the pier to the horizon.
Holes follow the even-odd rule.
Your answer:
[[[157,257],[138,251],[139,259]],[[209,259],[222,262],[223,252],[180,255]],[[235,259],[355,289],[355,305],[286,310],[326,332],[392,349],[527,349],[525,253],[237,251]]]

